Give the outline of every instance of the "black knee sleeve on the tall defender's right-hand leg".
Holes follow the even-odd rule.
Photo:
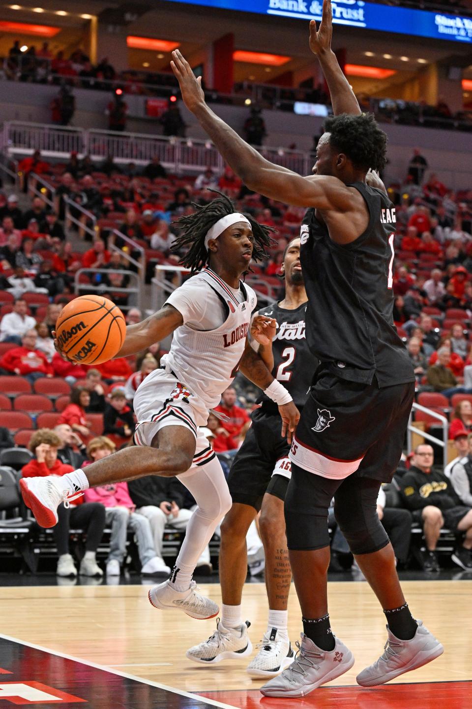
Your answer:
[[[372,554],[386,547],[388,535],[377,514],[376,494],[362,496],[360,490],[359,493],[335,496],[334,514],[352,554]]]

